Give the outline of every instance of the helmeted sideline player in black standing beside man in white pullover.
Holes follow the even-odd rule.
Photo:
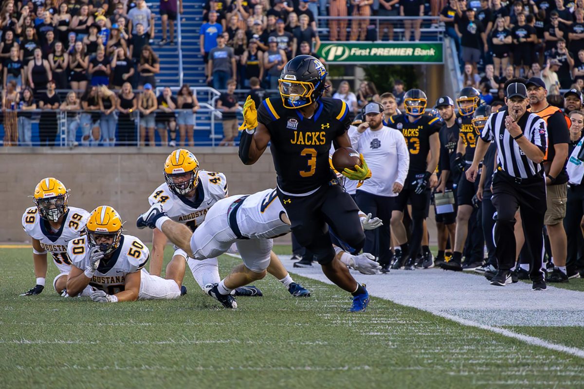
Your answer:
[[[427,105],[426,93],[419,89],[411,89],[404,96],[405,114],[390,118],[389,127],[402,132],[409,150],[409,171],[404,188],[394,204],[391,216],[391,229],[395,241],[401,247],[401,256],[396,255],[391,268],[413,270],[416,257],[422,243],[424,219],[427,218],[430,208],[430,176],[438,166],[440,156],[439,118],[425,115]],[[428,154],[430,159],[428,162]],[[404,209],[412,205],[412,236],[408,242],[402,219]],[[429,253],[425,253],[428,255]],[[384,268],[387,271],[387,267]]]

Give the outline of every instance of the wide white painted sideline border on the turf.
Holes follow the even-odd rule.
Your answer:
[[[293,274],[332,284],[320,267],[293,268],[289,255],[280,255]],[[548,286],[541,292],[529,283],[502,287],[491,286],[481,276],[440,269],[391,271],[387,275],[363,275],[351,271],[354,278],[367,284],[371,296],[415,307],[457,323],[495,332],[530,345],[584,358],[584,350],[518,334],[504,325],[584,326],[583,292]]]

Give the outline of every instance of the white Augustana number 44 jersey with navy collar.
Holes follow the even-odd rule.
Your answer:
[[[194,199],[176,195],[166,183],[160,185],[148,197],[150,205],[161,203],[168,217],[175,222],[183,223],[194,231],[203,223],[211,205],[228,196],[227,178],[223,173],[199,171],[199,184]]]

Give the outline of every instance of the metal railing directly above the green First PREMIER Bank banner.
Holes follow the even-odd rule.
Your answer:
[[[405,41],[405,20],[416,21],[420,20],[422,23],[420,25],[420,41],[442,41],[444,37],[444,26],[441,25],[439,16],[318,16],[319,23],[326,24],[326,27],[318,27],[319,36],[327,37],[330,40],[331,36],[331,22],[335,22],[332,28],[340,29],[339,33],[342,32],[344,28],[346,30],[346,40],[383,40],[385,37],[385,29],[387,28],[387,35],[390,34],[390,28],[392,29],[393,41]],[[322,22],[321,22],[322,21]],[[383,30],[381,30],[383,27]],[[376,36],[374,39],[364,38],[360,39],[360,36],[366,35],[367,30],[376,29]],[[366,32],[363,34],[363,29]],[[411,27],[411,39],[414,38],[414,27]],[[371,34],[371,33],[370,33]],[[339,36],[339,34],[335,34]]]

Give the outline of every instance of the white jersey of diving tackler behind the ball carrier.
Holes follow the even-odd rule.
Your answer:
[[[290,232],[290,225],[283,222],[282,215],[286,211],[276,190],[266,189],[245,199],[237,211],[237,225],[245,237],[272,239]]]

